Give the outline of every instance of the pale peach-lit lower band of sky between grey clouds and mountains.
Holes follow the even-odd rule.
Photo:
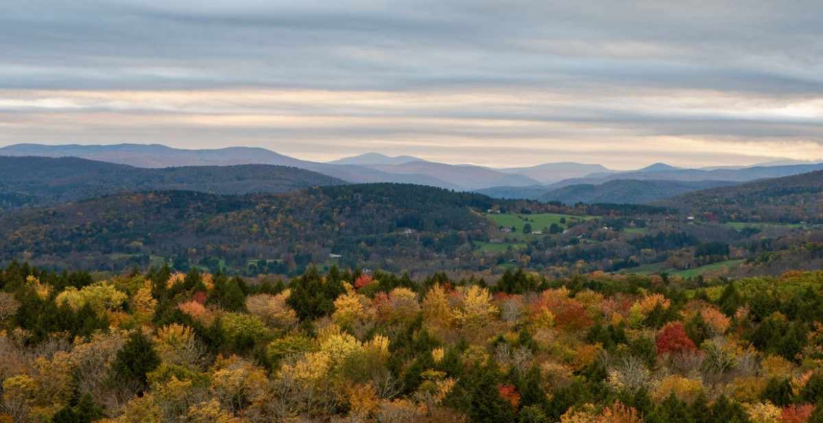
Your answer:
[[[219,148],[230,140],[313,161],[379,151],[491,167],[578,161],[638,168],[655,158],[703,167],[823,158],[814,141],[823,136],[821,99],[705,90],[580,94],[501,88],[0,90],[0,143],[82,139]],[[755,122],[775,131],[799,126],[793,132],[805,136],[712,133],[707,126],[720,117],[726,125]]]

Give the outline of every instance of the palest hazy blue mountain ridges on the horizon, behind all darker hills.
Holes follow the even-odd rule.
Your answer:
[[[453,165],[425,162],[411,156],[391,158],[383,154],[361,154],[332,163],[317,163],[294,159],[260,148],[230,147],[226,149],[174,149],[165,145],[33,145],[18,144],[0,148],[0,155],[79,157],[109,163],[127,164],[140,168],[167,168],[183,166],[227,166],[236,164],[270,164],[290,166],[351,183],[394,182],[438,186],[456,191],[483,190],[509,192],[508,187],[528,187],[523,192],[532,195],[533,186],[546,186],[546,192],[564,186],[600,185],[616,179],[640,181],[728,181],[750,182],[770,177],[783,177],[823,169],[823,163],[745,168],[675,168],[665,163],[636,171],[617,172],[597,164],[545,163],[524,168],[483,168],[472,165]],[[700,187],[700,185],[698,185]],[[514,190],[517,191],[517,190]],[[525,196],[525,195],[514,195]]]

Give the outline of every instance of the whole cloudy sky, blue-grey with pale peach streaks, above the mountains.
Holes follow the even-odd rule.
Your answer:
[[[3,0],[0,147],[823,161],[818,0]]]

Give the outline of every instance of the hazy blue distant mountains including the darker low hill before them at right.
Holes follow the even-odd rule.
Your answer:
[[[779,161],[769,166],[686,169],[654,163],[635,171],[599,164],[544,163],[523,168],[484,168],[429,162],[412,156],[367,153],[329,163],[311,162],[268,149],[174,149],[165,145],[35,145],[0,148],[0,156],[77,157],[137,168],[267,164],[322,173],[343,182],[396,182],[477,191],[499,198],[576,202],[647,203],[713,186],[785,177],[823,169],[823,163]],[[192,172],[192,171],[187,171]],[[645,181],[648,183],[639,183]]]

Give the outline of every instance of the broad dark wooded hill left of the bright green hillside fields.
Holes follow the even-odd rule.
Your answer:
[[[484,195],[398,184],[282,195],[119,193],[3,215],[0,260],[25,254],[41,264],[94,269],[103,255],[135,255],[142,264],[161,255],[179,268],[216,257],[240,269],[264,260],[263,268],[271,264],[280,273],[332,253],[351,267],[425,262],[461,246],[470,253],[472,240],[485,240],[491,225],[477,210],[495,205],[500,201]]]

